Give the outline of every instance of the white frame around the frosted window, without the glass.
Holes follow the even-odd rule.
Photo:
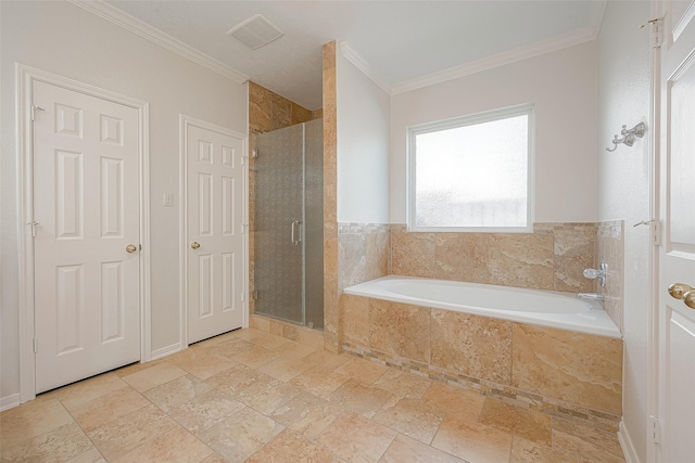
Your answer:
[[[458,127],[473,126],[493,120],[523,116],[529,117],[528,137],[528,175],[527,175],[527,224],[526,227],[417,227],[416,217],[416,169],[415,139],[419,134],[431,133]],[[437,120],[410,126],[407,129],[406,144],[406,176],[407,176],[407,229],[414,232],[494,232],[494,233],[530,233],[533,231],[535,206],[535,107],[532,103],[502,107],[482,113],[458,116],[451,119]]]

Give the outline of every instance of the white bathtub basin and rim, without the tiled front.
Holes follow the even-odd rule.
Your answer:
[[[621,338],[601,303],[576,294],[389,275],[345,294]]]

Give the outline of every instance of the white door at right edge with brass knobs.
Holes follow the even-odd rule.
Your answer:
[[[659,255],[660,462],[695,459],[695,2],[665,2]],[[681,283],[681,286],[669,286]],[[670,295],[669,293],[673,293]],[[675,297],[673,297],[675,296]]]

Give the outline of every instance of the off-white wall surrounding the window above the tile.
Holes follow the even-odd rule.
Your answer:
[[[406,222],[409,126],[535,104],[536,222],[596,219],[596,42],[500,66],[391,99],[391,222]]]

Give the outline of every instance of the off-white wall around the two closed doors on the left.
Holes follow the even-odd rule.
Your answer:
[[[0,2],[0,398],[18,393],[15,63],[150,103],[152,349],[179,342],[179,113],[245,133],[248,88],[66,2]],[[176,202],[178,203],[178,201]]]

